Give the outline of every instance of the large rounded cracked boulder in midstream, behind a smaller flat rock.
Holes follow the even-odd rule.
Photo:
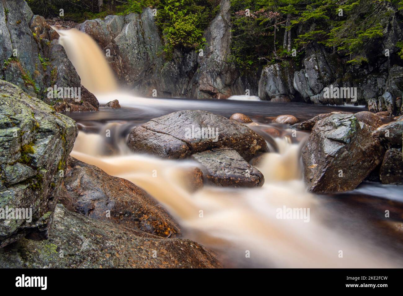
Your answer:
[[[134,152],[164,158],[185,158],[213,148],[230,147],[249,160],[267,151],[266,141],[249,127],[201,110],[173,112],[137,126],[131,130],[127,145]]]

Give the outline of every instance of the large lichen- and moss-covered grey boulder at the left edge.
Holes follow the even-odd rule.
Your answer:
[[[59,170],[77,136],[73,120],[19,87],[0,81],[0,208],[30,208],[32,221],[0,219],[0,247],[43,239],[58,200]]]

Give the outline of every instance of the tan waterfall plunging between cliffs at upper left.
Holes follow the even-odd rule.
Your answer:
[[[81,84],[94,95],[117,90],[116,79],[105,54],[87,34],[73,28],[52,27],[60,35],[59,43],[81,78]]]

